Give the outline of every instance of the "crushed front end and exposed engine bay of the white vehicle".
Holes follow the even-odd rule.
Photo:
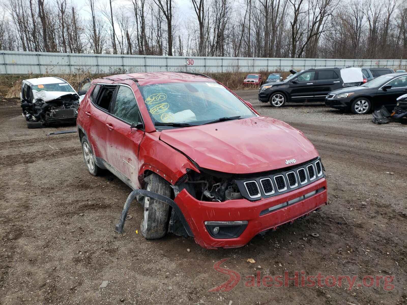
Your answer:
[[[33,99],[21,101],[22,113],[27,122],[42,123],[42,127],[50,124],[74,123],[78,116],[79,96],[76,93],[63,92],[63,95],[50,98],[46,91],[36,94]],[[50,92],[55,96],[55,92]],[[62,93],[62,92],[61,92]]]

